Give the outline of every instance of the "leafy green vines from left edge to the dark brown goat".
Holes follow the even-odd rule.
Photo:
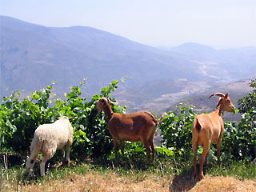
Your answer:
[[[20,92],[13,93],[10,97],[3,98],[0,106],[0,132],[1,146],[11,149],[18,154],[26,154],[30,142],[33,139],[34,130],[41,124],[54,122],[59,116],[72,117],[74,127],[74,143],[72,155],[76,158],[92,158],[102,154],[110,154],[113,148],[106,122],[102,120],[102,114],[94,109],[94,102],[102,96],[110,97],[112,91],[117,88],[118,81],[110,83],[110,86],[96,94],[90,102],[81,97],[80,86],[71,87],[65,94],[66,99],[54,98],[51,94],[53,85],[47,86],[41,91],[34,91],[30,97],[23,100]],[[113,98],[110,98],[113,100]],[[123,112],[125,107],[114,106],[115,112]]]

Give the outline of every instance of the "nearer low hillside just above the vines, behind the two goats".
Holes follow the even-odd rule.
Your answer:
[[[150,86],[161,85],[161,83],[166,87],[166,90],[158,89],[159,92],[154,92],[154,89],[150,89]],[[234,105],[238,106],[238,98],[246,96],[252,90],[249,83],[250,80],[240,80],[227,84],[189,82],[184,79],[176,79],[174,81],[162,80],[154,82],[150,86],[140,87],[140,89],[116,90],[114,97],[118,99],[121,105],[128,106],[128,112],[150,110],[162,114],[164,111],[176,110],[175,106],[183,102],[195,106],[194,110],[198,113],[206,113],[214,110],[218,101],[218,97],[208,99],[211,94],[217,92],[229,93]],[[152,92],[154,93],[152,94]],[[232,116],[231,119],[237,119],[238,117],[238,115],[233,117],[229,113],[225,116],[229,118]]]

